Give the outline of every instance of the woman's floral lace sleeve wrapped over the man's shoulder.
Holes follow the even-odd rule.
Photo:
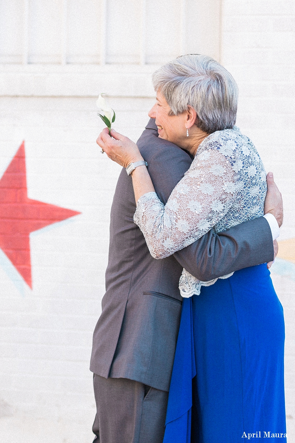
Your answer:
[[[236,192],[231,156],[210,149],[197,153],[166,206],[155,192],[140,197],[134,222],[154,258],[165,258],[194,243],[224,217]]]

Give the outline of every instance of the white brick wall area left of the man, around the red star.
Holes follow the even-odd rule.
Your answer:
[[[80,442],[91,441],[89,360],[105,290],[109,211],[121,169],[95,143],[103,128],[95,101],[6,97],[0,102],[1,172],[24,139],[28,196],[82,212],[31,234],[32,291],[0,256],[0,397],[2,414],[12,414],[0,422],[8,428],[5,437],[0,433],[3,443],[14,438],[15,426],[26,427],[33,419],[49,428],[58,420],[66,422],[64,429],[76,422],[70,435],[60,435],[74,442],[78,432]],[[137,140],[152,103],[114,98],[116,129]],[[27,419],[19,422],[21,416]],[[60,435],[53,432],[52,441],[62,441],[56,440]]]

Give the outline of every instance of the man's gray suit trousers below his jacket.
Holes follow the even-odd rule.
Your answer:
[[[128,378],[93,375],[93,443],[162,443],[168,392]]]

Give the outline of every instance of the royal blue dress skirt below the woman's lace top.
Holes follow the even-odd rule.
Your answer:
[[[183,299],[163,443],[286,442],[283,354],[266,264]]]

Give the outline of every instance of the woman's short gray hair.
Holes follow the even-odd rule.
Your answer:
[[[197,113],[195,124],[209,134],[231,129],[237,118],[238,87],[233,76],[213,58],[188,54],[175,58],[153,74],[159,91],[171,108],[170,115]]]

